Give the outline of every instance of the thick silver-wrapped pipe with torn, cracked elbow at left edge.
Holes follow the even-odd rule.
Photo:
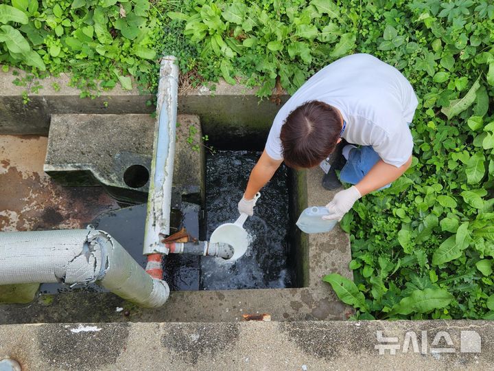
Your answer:
[[[103,231],[67,229],[0,233],[0,285],[89,284],[141,306],[165,304],[169,287],[152,278]]]

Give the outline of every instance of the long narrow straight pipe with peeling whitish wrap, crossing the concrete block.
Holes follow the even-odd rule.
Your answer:
[[[170,203],[175,157],[175,128],[178,97],[178,65],[174,56],[161,60],[156,105],[156,126],[151,163],[148,216],[143,254],[168,254],[160,234],[169,235]]]

